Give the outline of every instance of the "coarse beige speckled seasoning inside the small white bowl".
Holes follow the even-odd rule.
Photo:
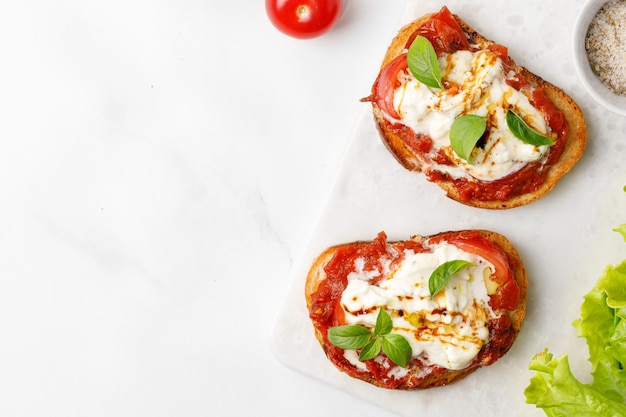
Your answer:
[[[585,49],[600,81],[626,95],[626,0],[608,1],[598,10],[587,30]]]

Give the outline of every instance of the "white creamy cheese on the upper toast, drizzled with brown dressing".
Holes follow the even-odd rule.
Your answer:
[[[394,107],[401,122],[416,133],[432,138],[432,155],[443,150],[455,163],[430,162],[425,168],[447,173],[455,179],[471,176],[492,181],[547,154],[548,146],[528,145],[508,129],[505,117],[512,108],[533,129],[548,134],[544,118],[528,97],[506,83],[502,60],[495,53],[457,51],[441,56],[439,66],[447,88],[431,88],[407,75],[407,82],[398,87],[394,95]],[[488,118],[489,135],[484,145],[474,149],[472,164],[459,158],[450,146],[450,126],[462,114]]]

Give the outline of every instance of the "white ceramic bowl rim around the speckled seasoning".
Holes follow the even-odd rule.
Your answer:
[[[580,10],[574,25],[574,65],[583,86],[594,100],[612,112],[626,116],[626,96],[615,94],[602,84],[591,71],[585,51],[587,28],[600,7],[606,2],[607,0],[589,0]]]

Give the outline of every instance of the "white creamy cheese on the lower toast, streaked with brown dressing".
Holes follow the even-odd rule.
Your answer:
[[[442,263],[457,259],[474,266],[455,274],[431,297],[431,273]],[[356,263],[355,271],[362,270],[359,261]],[[407,339],[413,356],[447,369],[463,369],[489,338],[487,322],[495,314],[488,304],[484,277],[493,270],[485,259],[445,243],[426,253],[407,250],[402,262],[376,285],[363,274],[351,275],[341,296],[346,324],[373,328],[378,309],[385,308],[393,321],[392,332]],[[346,355],[353,364],[358,362],[353,351]]]

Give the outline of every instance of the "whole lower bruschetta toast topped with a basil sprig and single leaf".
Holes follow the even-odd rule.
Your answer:
[[[527,286],[518,252],[498,233],[388,242],[381,232],[323,251],[305,298],[315,337],[339,370],[379,387],[417,390],[502,357],[524,321]]]

